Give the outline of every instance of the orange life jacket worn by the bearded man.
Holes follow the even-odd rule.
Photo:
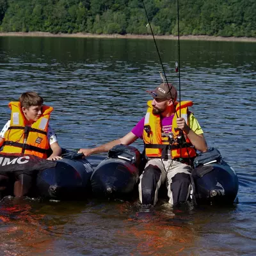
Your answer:
[[[175,102],[176,113],[173,116],[172,121],[172,133],[173,140],[177,140],[179,136],[179,129],[177,129],[177,118],[183,117],[188,123],[188,107],[193,106],[192,101],[182,101]],[[186,134],[185,134],[186,135]],[[154,115],[152,113],[152,100],[148,101],[147,114],[145,116],[144,130],[143,130],[143,140],[145,143],[145,154],[148,157],[164,157],[162,152],[164,148],[168,148],[170,141],[166,136],[163,137],[161,117],[160,115]],[[176,158],[186,158],[186,157],[195,157],[196,150],[193,147],[188,136],[186,136],[186,142],[179,145],[179,143],[172,143],[169,148],[172,152],[172,159]]]

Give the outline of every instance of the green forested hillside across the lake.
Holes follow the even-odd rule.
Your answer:
[[[177,35],[177,0],[144,0],[156,35]],[[179,0],[180,35],[256,37],[255,0]],[[0,0],[0,31],[150,34],[141,0]]]

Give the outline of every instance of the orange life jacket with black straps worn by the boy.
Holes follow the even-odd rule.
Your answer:
[[[31,125],[26,126],[26,118],[20,107],[20,102],[10,102],[12,110],[10,127],[4,134],[4,146],[1,153],[29,154],[47,158],[49,141],[47,131],[52,107],[42,106],[42,115]]]

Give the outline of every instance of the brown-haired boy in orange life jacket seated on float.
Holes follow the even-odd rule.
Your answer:
[[[44,99],[35,92],[25,92],[19,102],[10,102],[11,119],[0,132],[0,154],[29,154],[47,160],[61,159],[61,147],[49,125],[52,107],[43,106]],[[47,152],[52,150],[51,156]],[[29,173],[31,174],[31,173]],[[24,196],[31,188],[33,175],[15,173],[14,195]],[[0,191],[9,177],[0,175]],[[26,186],[23,186],[23,185]]]

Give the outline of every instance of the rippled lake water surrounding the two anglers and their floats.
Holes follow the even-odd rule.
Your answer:
[[[157,40],[168,81],[177,42]],[[153,40],[0,37],[0,126],[8,102],[36,91],[54,107],[61,147],[120,138],[145,115],[145,91],[161,83]],[[0,202],[0,255],[255,255],[256,44],[180,42],[180,95],[209,147],[239,177],[239,203],[173,211],[136,202]],[[134,146],[140,151],[142,141]]]

